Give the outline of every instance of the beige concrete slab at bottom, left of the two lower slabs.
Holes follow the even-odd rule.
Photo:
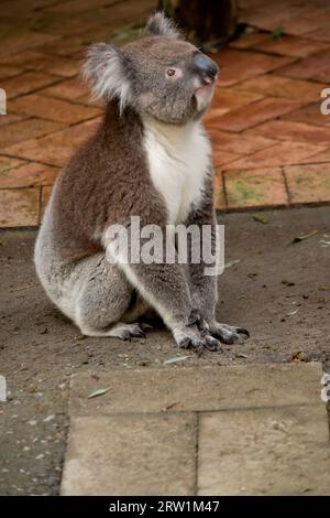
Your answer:
[[[98,416],[70,424],[62,495],[193,495],[196,414]]]

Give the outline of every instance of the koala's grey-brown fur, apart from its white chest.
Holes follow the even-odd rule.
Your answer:
[[[84,334],[141,335],[136,320],[152,309],[178,346],[215,349],[218,338],[233,342],[239,332],[216,322],[216,278],[204,277],[202,265],[123,266],[106,259],[103,236],[110,225],[128,226],[136,215],[141,226],[165,229],[167,223],[164,198],[148,171],[143,120],[184,126],[202,115],[194,98],[197,48],[168,37],[170,24],[160,14],[147,26],[162,35],[143,36],[121,50],[100,44],[89,53],[86,74],[108,99],[107,111],[55,183],[35,246],[36,271],[50,299]],[[164,78],[167,66],[183,69],[175,85]],[[209,173],[202,202],[191,207],[187,224],[216,222]]]

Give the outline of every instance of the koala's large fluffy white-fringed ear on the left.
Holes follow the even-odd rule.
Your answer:
[[[119,48],[107,43],[90,46],[82,74],[85,79],[91,79],[94,98],[117,98],[122,112],[129,102],[130,83],[124,57]]]

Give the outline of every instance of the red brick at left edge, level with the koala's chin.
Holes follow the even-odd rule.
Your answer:
[[[13,122],[1,129],[0,148],[2,148],[3,151],[6,145],[11,145],[23,140],[31,140],[37,137],[43,137],[44,134],[58,131],[64,127],[65,125],[62,125],[61,122],[33,118]]]

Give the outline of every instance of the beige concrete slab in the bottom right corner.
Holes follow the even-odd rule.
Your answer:
[[[198,443],[198,495],[330,495],[321,404],[204,413]]]

